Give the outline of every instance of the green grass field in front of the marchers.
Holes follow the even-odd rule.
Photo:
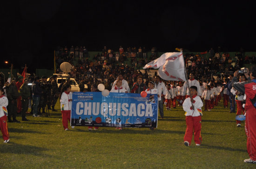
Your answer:
[[[236,114],[222,105],[203,112],[202,145],[192,141],[189,147],[183,144],[182,107],[164,111],[154,131],[77,126],[64,131],[60,109],[49,117],[29,114],[28,122],[8,124],[10,142],[0,142],[0,169],[255,169],[243,162],[249,158],[244,122],[236,127]]]

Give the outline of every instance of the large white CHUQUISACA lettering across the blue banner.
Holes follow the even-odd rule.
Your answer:
[[[122,111],[121,111],[122,109]],[[100,105],[100,102],[77,102],[76,104],[76,110],[77,115],[99,115],[101,113],[102,116],[108,117],[109,116],[149,116],[153,117],[153,109],[152,104],[145,104],[140,103],[137,105],[135,103],[131,103],[130,105],[128,103],[106,103],[103,102]]]

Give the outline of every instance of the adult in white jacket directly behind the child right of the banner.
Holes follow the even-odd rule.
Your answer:
[[[182,96],[185,96],[185,94],[186,94],[186,98],[189,97],[189,87],[191,87],[191,86],[195,86],[196,88],[198,88],[197,95],[199,97],[201,97],[202,91],[201,91],[199,81],[194,79],[194,75],[192,73],[189,74],[189,80],[185,81],[185,83],[183,85]],[[185,99],[185,98],[183,98],[183,99]]]

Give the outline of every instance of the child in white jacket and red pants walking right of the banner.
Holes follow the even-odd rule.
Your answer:
[[[191,98],[187,98],[183,102],[183,110],[186,112],[186,124],[187,129],[184,136],[184,144],[189,146],[192,141],[193,131],[194,131],[194,141],[195,145],[199,146],[202,143],[201,136],[201,116],[202,116],[202,100],[197,96],[197,87],[190,87]],[[193,104],[192,104],[193,103]]]

